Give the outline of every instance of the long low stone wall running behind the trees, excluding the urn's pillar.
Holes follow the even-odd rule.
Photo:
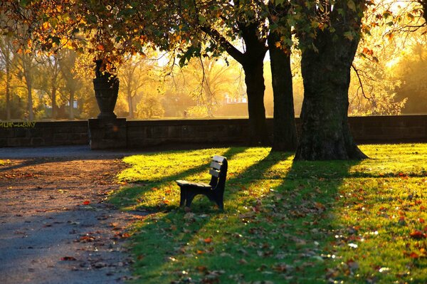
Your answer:
[[[267,124],[271,133],[273,120]],[[427,142],[427,115],[349,117],[349,124],[359,144]],[[125,131],[128,148],[245,145],[248,136],[245,119],[130,120],[125,125],[126,130],[120,131]],[[88,121],[0,122],[0,147],[75,144],[89,144]]]

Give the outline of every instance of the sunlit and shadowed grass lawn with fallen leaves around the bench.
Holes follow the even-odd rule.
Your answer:
[[[126,157],[110,194],[154,212],[130,228],[136,283],[427,283],[427,144],[364,145],[371,159],[292,162],[269,148]],[[176,179],[228,158],[225,211],[179,209]],[[262,282],[264,281],[264,282]]]

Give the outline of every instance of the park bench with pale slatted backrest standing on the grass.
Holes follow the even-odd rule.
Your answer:
[[[181,200],[179,206],[186,206],[189,209],[194,196],[203,194],[214,201],[219,209],[224,209],[223,196],[226,187],[227,177],[227,159],[226,157],[215,155],[210,164],[209,174],[211,174],[211,182],[205,184],[204,182],[187,182],[184,180],[177,180],[176,184],[181,189]]]

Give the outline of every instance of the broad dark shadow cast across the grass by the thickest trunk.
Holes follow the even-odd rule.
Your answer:
[[[281,159],[286,157],[283,155]],[[277,156],[272,154],[266,157],[261,167],[263,171],[267,172],[275,164],[272,162],[275,159]],[[250,210],[239,216],[241,226],[228,230],[231,235],[243,236],[240,239],[246,244],[245,253],[241,253],[236,243],[222,243],[216,249],[244,258],[249,267],[254,260],[258,260],[254,263],[264,263],[264,268],[253,266],[249,269],[253,273],[246,277],[252,281],[325,282],[325,270],[328,268],[325,259],[333,253],[324,247],[331,240],[331,232],[336,229],[331,212],[334,210],[335,198],[339,196],[339,187],[349,176],[349,169],[358,163],[293,162],[289,171],[284,173],[285,176],[276,179],[278,183],[273,184],[270,192],[249,204]],[[265,172],[255,177],[263,179]],[[248,173],[251,173],[251,169],[242,176]],[[251,176],[253,174],[246,177]],[[248,179],[245,184],[252,184],[253,181]],[[215,267],[218,261],[221,258],[211,258],[204,263]],[[280,273],[266,276],[263,270],[278,270]],[[313,282],[312,275],[320,277]]]

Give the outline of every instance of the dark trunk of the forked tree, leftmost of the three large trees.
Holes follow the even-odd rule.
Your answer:
[[[264,63],[263,58],[243,64],[246,92],[248,94],[249,139],[251,145],[270,144],[264,107]]]

